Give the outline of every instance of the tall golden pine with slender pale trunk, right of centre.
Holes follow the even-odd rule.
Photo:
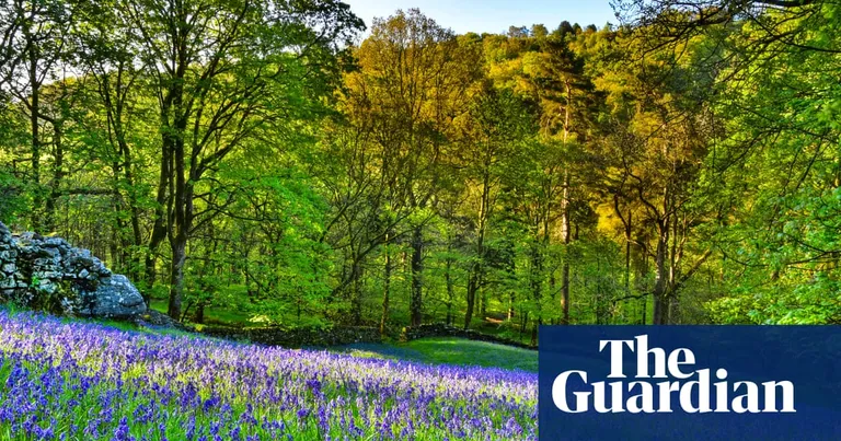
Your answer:
[[[568,247],[573,240],[572,207],[577,204],[575,198],[584,195],[584,192],[573,192],[576,187],[574,159],[580,156],[580,147],[590,129],[594,96],[592,86],[584,76],[584,59],[575,51],[575,38],[573,26],[563,22],[552,35],[523,38],[518,46],[517,58],[502,62],[499,71],[492,70],[492,77],[498,83],[512,86],[541,107],[540,137],[548,150],[540,153],[545,159],[541,165],[543,175],[535,175],[534,178],[543,182],[534,188],[534,194],[542,197],[533,199],[537,205],[529,209],[535,216],[530,220],[535,234],[531,251],[535,301],[542,297],[542,272],[545,269],[543,252],[539,248],[546,249],[556,220],[560,220],[564,247]],[[556,202],[558,207],[554,207]],[[540,235],[542,237],[538,237]],[[569,322],[569,259],[563,258],[562,323]],[[553,291],[554,268],[550,268],[549,274],[550,291]]]

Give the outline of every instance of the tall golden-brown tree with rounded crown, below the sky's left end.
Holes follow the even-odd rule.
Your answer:
[[[477,76],[477,50],[417,10],[377,20],[357,50],[360,69],[347,79],[352,115],[369,127],[379,151],[379,173],[392,209],[408,208],[413,221],[411,323],[422,321],[424,224],[445,176],[442,156],[452,120],[466,109]],[[388,233],[391,239],[394,234]],[[388,295],[385,295],[388,299]]]

